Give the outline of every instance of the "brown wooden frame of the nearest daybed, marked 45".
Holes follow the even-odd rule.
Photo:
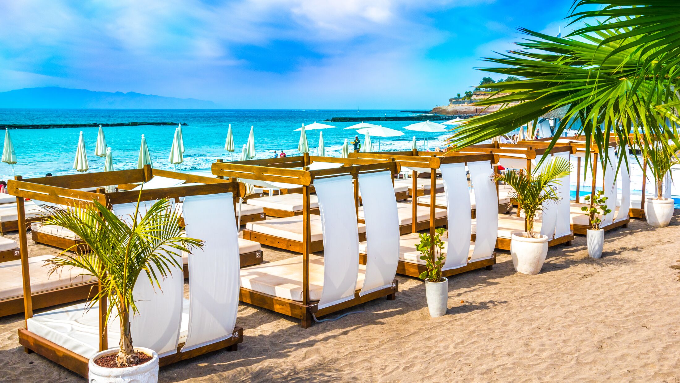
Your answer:
[[[148,182],[153,176],[163,176],[169,178],[177,178],[187,180],[188,182],[205,182],[202,185],[190,186],[174,186],[169,188],[156,188],[149,190],[125,190],[114,193],[91,193],[88,191],[75,190],[78,188],[90,188],[102,185],[124,184],[131,182]],[[100,173],[83,173],[70,176],[56,176],[44,178],[31,178],[24,180],[22,176],[16,176],[14,180],[7,182],[8,193],[15,195],[17,198],[17,210],[19,213],[19,224],[22,227],[26,222],[24,218],[24,198],[38,199],[50,203],[57,203],[67,206],[82,206],[84,203],[91,203],[98,201],[99,203],[112,207],[117,203],[153,201],[155,199],[169,198],[179,199],[190,195],[211,195],[216,193],[233,193],[239,196],[243,193],[245,187],[243,184],[237,182],[225,182],[216,178],[209,178],[203,176],[194,176],[186,173],[176,173],[174,171],[165,171],[160,169],[152,169],[146,166],[143,169],[132,170],[118,170],[105,171]],[[235,203],[235,202],[234,202]],[[92,295],[93,290],[97,290],[97,282],[75,286],[75,288],[62,288],[58,290],[51,290],[46,293],[31,294],[31,277],[29,275],[29,248],[27,244],[27,237],[25,233],[20,233],[20,256],[22,269],[22,284],[24,289],[23,296],[23,312],[25,320],[33,317],[33,310],[41,307],[48,307],[60,303],[69,303],[86,299]],[[7,303],[0,302],[4,305]],[[15,304],[12,302],[10,304]],[[99,350],[107,350],[108,339],[105,331],[106,323],[106,308],[105,301],[99,304]],[[16,312],[16,310],[15,310]],[[20,312],[20,311],[18,311]],[[37,352],[51,361],[70,369],[81,376],[88,375],[88,359],[80,354],[68,350],[58,344],[50,342],[44,337],[29,331],[27,329],[27,322],[24,322],[24,328],[19,329],[19,343],[24,346],[26,352]],[[237,350],[238,344],[243,342],[243,329],[235,327],[233,337],[225,339],[221,342],[209,344],[195,348],[193,350],[182,352],[184,344],[177,346],[177,353],[160,358],[158,363],[160,366],[169,365],[178,361],[193,358],[207,352],[221,350],[234,351]]]

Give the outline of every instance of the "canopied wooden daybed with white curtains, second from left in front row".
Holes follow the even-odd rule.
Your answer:
[[[369,165],[352,165],[356,161],[333,160],[342,161],[346,166],[312,171],[247,163],[214,163],[212,166],[213,173],[224,178],[287,182],[302,187],[303,241],[296,245],[301,255],[241,269],[240,299],[245,303],[298,318],[303,328],[310,327],[316,317],[332,314],[347,307],[380,297],[394,299],[398,290],[393,270],[380,269],[377,273],[369,272],[369,269],[381,267],[387,261],[366,267],[359,265],[360,238],[356,223],[354,190],[357,186],[352,185],[354,180],[362,182],[362,178],[375,173],[380,173],[379,176],[391,180],[398,167],[394,162],[372,161],[373,163]],[[319,219],[324,222],[322,233],[324,241],[322,248],[318,250],[313,250],[311,240],[312,214],[309,212],[311,186],[316,189],[321,214]],[[385,190],[369,190],[368,193],[380,191],[384,193]],[[391,191],[388,193],[394,195]],[[348,209],[347,205],[351,208]],[[396,222],[390,233],[394,235],[393,239],[396,241],[398,237]],[[312,254],[321,250],[324,252],[323,256]],[[391,256],[391,261],[394,261],[396,267],[396,254]],[[377,276],[386,279],[376,282]],[[326,280],[333,280],[335,283],[324,284]]]

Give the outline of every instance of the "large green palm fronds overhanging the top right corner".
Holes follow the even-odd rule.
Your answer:
[[[645,137],[669,137],[679,145],[673,122],[680,123],[675,116],[675,107],[680,105],[675,91],[680,86],[680,37],[674,32],[680,5],[669,3],[581,0],[575,3],[576,10],[606,6],[574,12],[575,20],[605,21],[586,24],[567,37],[522,29],[528,37],[517,44],[520,50],[485,59],[500,66],[482,70],[524,80],[496,82],[492,88],[509,95],[478,102],[516,104],[459,124],[452,143],[459,147],[475,144],[564,108],[566,115],[554,135],[577,127],[588,144],[597,144],[607,161],[611,135],[628,143],[633,133],[632,143],[647,148],[651,141]],[[662,149],[670,150],[667,142]]]

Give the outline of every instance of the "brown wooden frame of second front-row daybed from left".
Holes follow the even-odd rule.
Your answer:
[[[314,157],[311,157],[312,159]],[[389,161],[386,163],[376,163],[376,161],[357,161],[353,159],[337,159],[330,157],[319,157],[319,159],[326,162],[336,162],[343,163],[347,166],[337,167],[333,169],[321,169],[321,170],[309,170],[307,167],[303,169],[288,169],[286,167],[272,167],[264,165],[250,165],[242,161],[241,163],[224,163],[217,162],[212,165],[212,172],[214,175],[222,178],[248,178],[255,180],[262,180],[268,182],[285,182],[287,184],[301,185],[302,195],[303,195],[303,241],[296,242],[290,241],[284,246],[279,244],[279,248],[285,248],[286,250],[291,250],[294,252],[300,252],[303,258],[303,280],[302,280],[302,296],[303,300],[293,301],[290,299],[284,299],[275,297],[274,295],[269,295],[265,293],[260,293],[255,290],[250,290],[248,288],[241,287],[241,299],[244,303],[250,303],[259,307],[272,310],[273,312],[278,312],[280,314],[285,314],[292,316],[293,318],[298,318],[301,320],[301,326],[305,329],[311,326],[313,316],[325,316],[337,312],[338,310],[343,310],[347,307],[352,307],[360,303],[367,301],[372,301],[373,299],[387,297],[389,300],[396,298],[396,293],[398,291],[398,281],[395,279],[392,282],[392,286],[388,288],[382,288],[381,290],[376,290],[373,293],[360,296],[360,290],[356,290],[354,293],[354,298],[349,301],[344,301],[330,307],[324,307],[318,309],[318,301],[311,301],[309,299],[309,254],[312,252],[318,252],[323,250],[323,244],[316,244],[311,242],[311,225],[310,225],[310,209],[309,209],[309,189],[313,186],[314,180],[322,180],[324,178],[332,178],[337,176],[352,176],[354,179],[354,198],[356,209],[358,209],[358,201],[356,200],[356,190],[358,189],[358,184],[356,180],[359,174],[363,173],[375,173],[378,171],[390,171],[392,176],[398,172],[398,165],[394,161]],[[300,163],[301,159],[296,159],[295,157],[286,157],[284,159],[278,160],[288,160],[291,163]],[[259,160],[257,160],[259,161]],[[356,165],[358,163],[363,163],[365,165]],[[356,166],[349,166],[356,165]],[[297,167],[292,165],[290,167]],[[259,242],[254,237],[261,238],[259,235],[254,235],[250,232],[250,235],[243,231],[243,237],[250,238],[256,242]],[[277,238],[278,241],[285,242],[285,239]],[[364,235],[365,239],[365,235]],[[362,240],[360,238],[360,240]],[[267,244],[267,241],[260,242]]]

